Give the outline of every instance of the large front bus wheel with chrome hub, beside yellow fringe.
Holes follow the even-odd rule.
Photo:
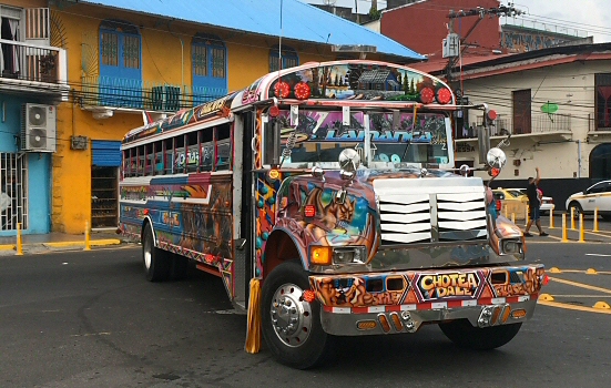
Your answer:
[[[320,325],[320,304],[304,300],[309,289],[299,262],[278,265],[263,282],[262,334],[275,358],[298,369],[316,367],[330,357],[333,337]]]

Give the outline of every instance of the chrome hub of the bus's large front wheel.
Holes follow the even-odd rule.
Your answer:
[[[312,306],[304,300],[303,294],[301,287],[285,284],[276,289],[272,299],[269,314],[274,331],[291,347],[303,345],[312,331]]]

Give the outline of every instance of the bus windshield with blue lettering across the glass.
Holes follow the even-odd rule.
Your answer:
[[[345,124],[342,112],[304,111],[297,125],[291,125],[289,113],[281,111],[283,166],[308,167],[337,163],[347,147],[364,159],[365,120],[369,120],[369,163],[388,167],[414,164],[448,164],[449,119],[442,113],[350,112]],[[288,146],[287,146],[288,144]],[[286,150],[291,149],[291,154]],[[271,153],[266,153],[269,155]]]

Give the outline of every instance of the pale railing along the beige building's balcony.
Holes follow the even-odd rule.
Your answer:
[[[571,115],[534,114],[530,123],[515,123],[511,118],[506,119],[500,116],[495,120],[492,124],[493,125],[490,127],[491,136],[566,133],[571,132]],[[457,139],[477,139],[477,131],[475,129],[481,125],[481,120],[471,123],[470,129],[459,131]]]

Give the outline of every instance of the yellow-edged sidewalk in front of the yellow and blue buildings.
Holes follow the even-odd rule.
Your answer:
[[[112,231],[91,232],[89,238],[90,248],[99,246],[112,246],[130,244],[122,235]],[[57,251],[78,251],[85,248],[84,234],[67,234],[52,232],[47,234],[22,234],[21,249],[23,254],[57,252]],[[17,254],[17,235],[0,237],[0,256]]]

